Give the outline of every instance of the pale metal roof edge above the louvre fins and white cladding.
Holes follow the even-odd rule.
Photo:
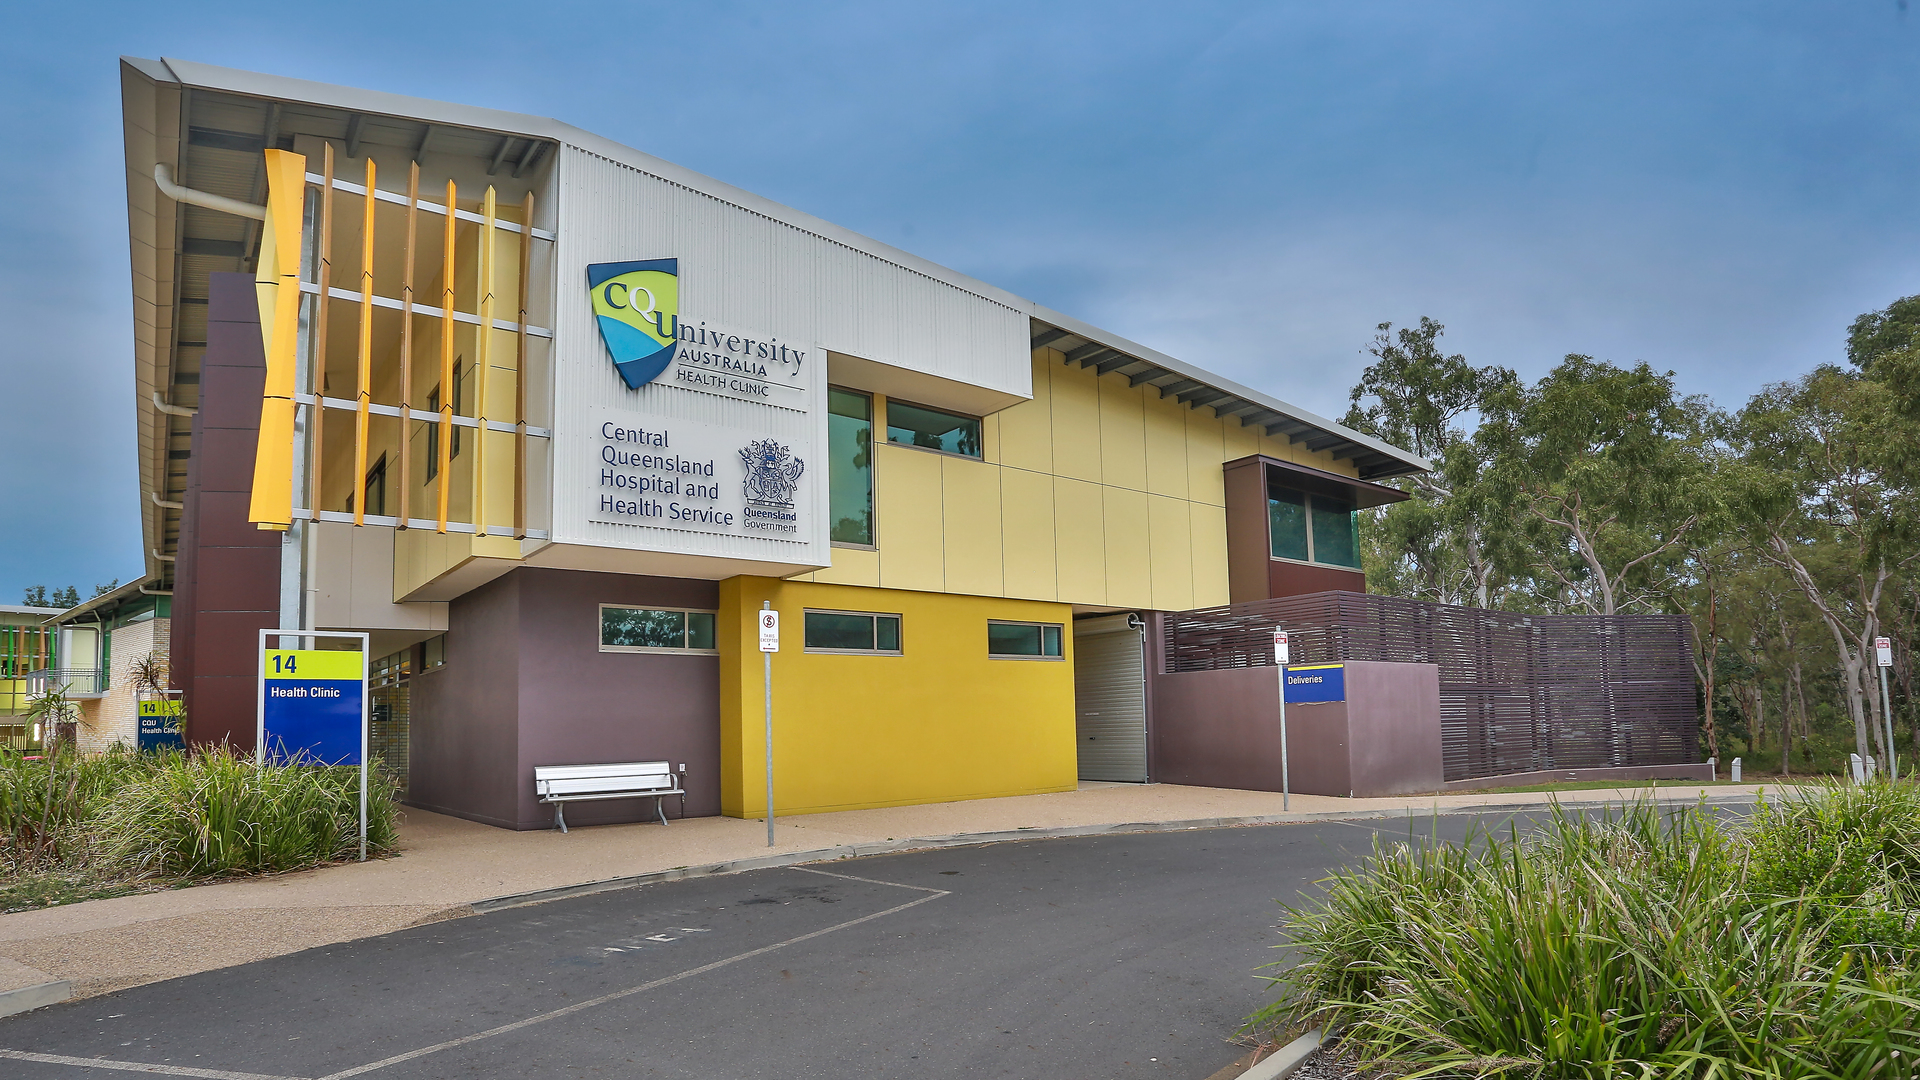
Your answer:
[[[134,61],[129,63],[152,63]],[[693,169],[674,165],[672,161],[662,161],[651,154],[634,150],[632,146],[614,142],[611,138],[593,135],[591,131],[578,129],[570,123],[557,121],[553,117],[538,117],[528,113],[509,113],[501,110],[488,110],[480,106],[459,106],[453,102],[436,102],[432,98],[409,98],[405,94],[388,94],[384,90],[361,90],[357,86],[336,86],[332,83],[311,83],[307,79],[288,79],[284,75],[263,75],[257,71],[240,71],[234,67],[217,67],[211,63],[198,63],[192,60],[173,60],[167,58],[165,67],[173,71],[177,83],[186,86],[196,86],[204,90],[225,90],[230,94],[246,94],[253,98],[276,98],[292,100],[311,106],[361,111],[361,113],[380,113],[399,119],[411,119],[420,123],[444,123],[449,127],[468,127],[478,131],[499,131],[511,135],[522,135],[530,138],[549,138],[589,154],[599,154],[622,165],[630,165],[662,181],[680,184],[684,188],[697,190],[701,194],[714,196],[722,202],[739,206],[753,213],[772,217],[795,229],[814,233],[835,244],[843,244],[856,252],[864,252],[877,259],[897,263],[914,273],[922,273],[945,284],[950,284],[962,292],[972,292],[981,300],[991,300],[1004,307],[1012,307],[1023,315],[1033,313],[1033,302],[1016,296],[985,281],[972,279],[960,271],[943,267],[920,256],[902,252],[889,244],[881,244],[870,236],[862,236],[831,221],[814,217],[791,206],[778,204],[766,196],[753,194],[733,184],[716,181],[712,177],[695,173]]]

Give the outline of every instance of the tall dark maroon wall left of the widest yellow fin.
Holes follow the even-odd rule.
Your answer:
[[[173,567],[173,684],[186,740],[253,748],[259,630],[280,623],[280,538],[248,521],[267,357],[253,277],[209,279],[207,350]]]

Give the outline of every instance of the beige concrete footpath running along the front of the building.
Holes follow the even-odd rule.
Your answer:
[[[1657,788],[1663,803],[1701,796],[1751,799],[1764,786]],[[1620,803],[1647,788],[1561,792],[1561,805]],[[843,811],[766,822],[705,817],[561,832],[509,832],[419,809],[405,811],[399,855],[298,874],[248,878],[40,911],[0,915],[0,994],[69,982],[73,997],[250,963],[315,945],[386,934],[497,907],[503,897],[564,896],[593,882],[647,874],[753,869],[768,861],[835,859],[910,847],[1106,830],[1286,821],[1519,811],[1542,794],[1455,794],[1398,799],[1294,796],[1171,784],[1085,784],[1077,792]],[[492,901],[492,903],[490,903]],[[505,899],[511,901],[511,899]]]

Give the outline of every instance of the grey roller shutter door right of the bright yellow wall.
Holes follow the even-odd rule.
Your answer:
[[[1081,780],[1146,782],[1146,638],[1127,615],[1073,625],[1073,738]]]

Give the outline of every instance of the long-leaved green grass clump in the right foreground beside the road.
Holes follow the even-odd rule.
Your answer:
[[[1386,1076],[1910,1078],[1916,842],[1920,788],[1874,784],[1377,844],[1286,909],[1250,1026]]]

